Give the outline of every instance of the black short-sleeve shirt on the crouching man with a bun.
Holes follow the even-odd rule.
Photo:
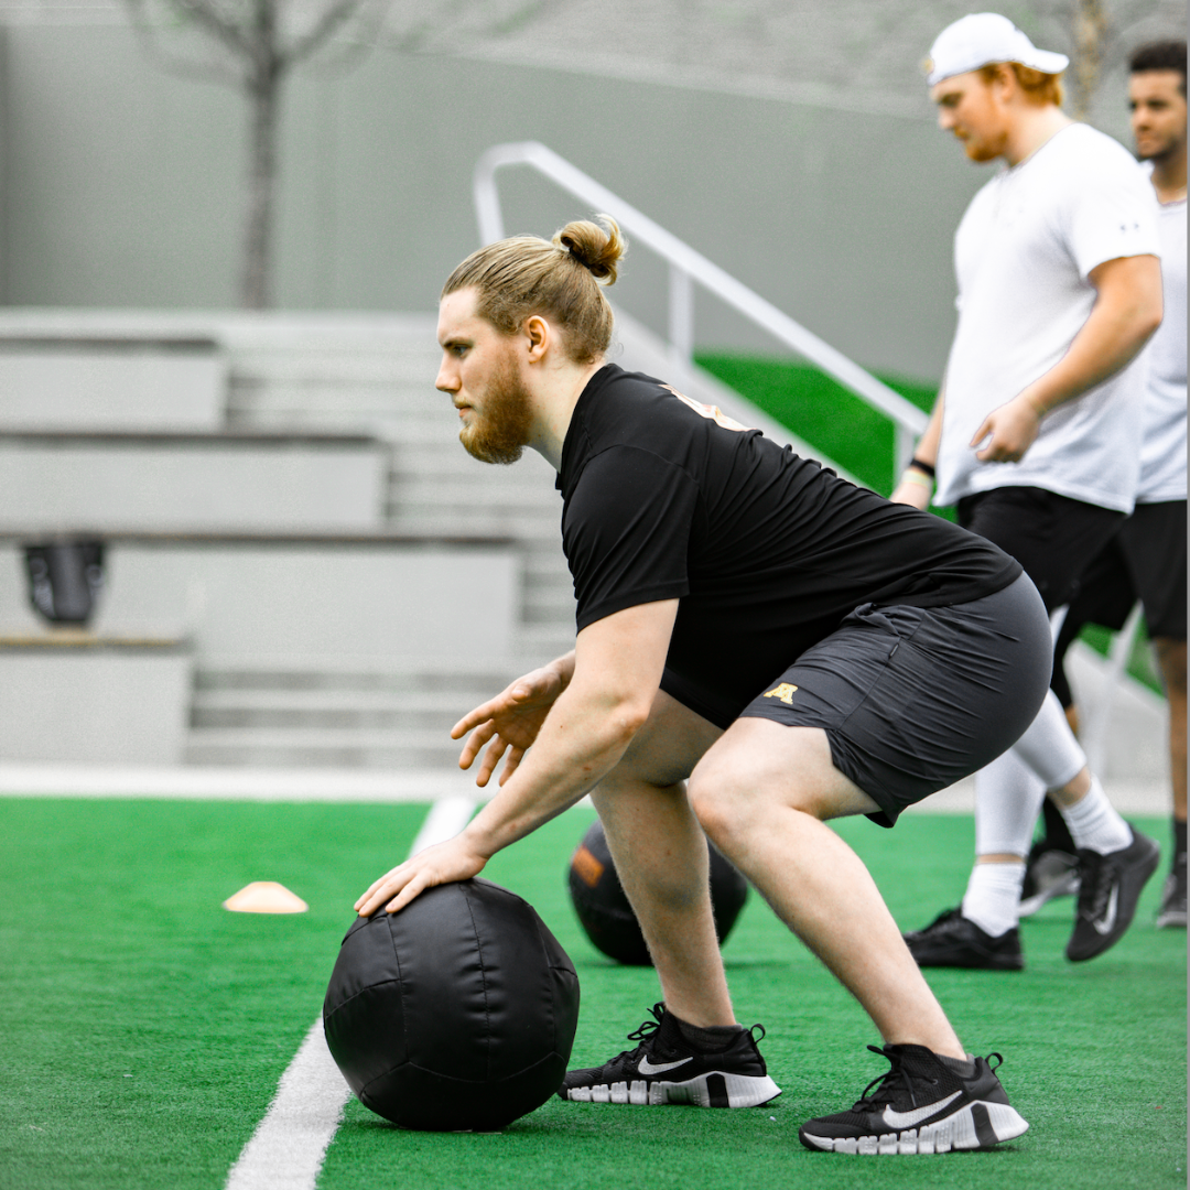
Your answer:
[[[1022,572],[990,541],[615,364],[575,406],[557,486],[578,631],[679,600],[666,669],[720,726],[859,605],[966,603]]]

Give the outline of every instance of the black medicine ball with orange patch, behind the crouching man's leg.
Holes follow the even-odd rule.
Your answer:
[[[720,944],[731,933],[747,900],[747,881],[710,844],[710,907]],[[570,860],[570,900],[587,937],[618,963],[652,963],[637,915],[612,863],[603,823],[597,819]]]

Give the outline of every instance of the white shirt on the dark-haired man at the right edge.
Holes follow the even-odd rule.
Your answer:
[[[1163,202],[1161,290],[1165,315],[1148,345],[1145,438],[1136,503],[1186,497],[1186,200]]]

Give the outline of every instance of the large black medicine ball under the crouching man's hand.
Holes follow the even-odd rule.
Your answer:
[[[427,889],[347,931],[326,1042],[372,1111],[405,1128],[494,1132],[562,1085],[578,977],[533,907],[489,881]]]

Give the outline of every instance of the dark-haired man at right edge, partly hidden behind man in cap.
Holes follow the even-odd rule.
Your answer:
[[[1136,508],[1088,568],[1054,647],[1053,688],[1077,722],[1063,671],[1085,624],[1123,627],[1139,599],[1169,702],[1173,859],[1157,925],[1186,925],[1186,43],[1152,42],[1129,58],[1136,156],[1160,202],[1165,318],[1148,350]],[[1025,876],[1022,915],[1077,890],[1075,844],[1045,806],[1046,829]]]

